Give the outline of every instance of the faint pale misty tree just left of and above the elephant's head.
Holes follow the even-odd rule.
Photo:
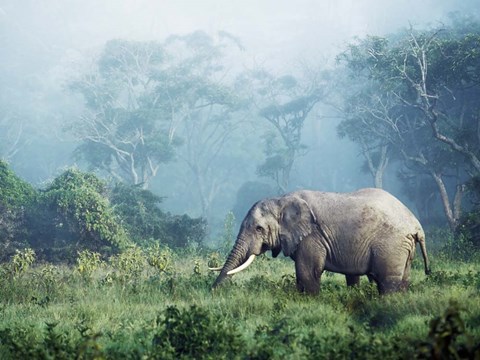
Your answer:
[[[197,31],[171,36],[165,42],[171,65],[155,75],[159,101],[172,114],[172,134],[184,140],[178,156],[191,175],[187,178],[193,179],[189,188],[204,218],[210,218],[213,201],[236,168],[232,144],[246,120],[235,89],[235,64],[227,62],[226,53],[230,50],[232,56],[242,48],[227,35]]]

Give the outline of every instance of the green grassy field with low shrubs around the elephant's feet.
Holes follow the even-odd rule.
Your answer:
[[[417,256],[406,293],[325,274],[318,296],[295,289],[294,263],[260,257],[212,292],[222,261],[199,249],[132,249],[102,261],[0,268],[1,359],[411,359],[480,356],[478,258]],[[475,350],[476,346],[476,350]]]

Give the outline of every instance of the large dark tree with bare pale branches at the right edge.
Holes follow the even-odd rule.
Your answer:
[[[475,28],[469,26],[469,31]],[[479,106],[474,101],[480,90],[479,34],[466,33],[458,23],[423,32],[410,29],[391,39],[367,37],[342,55],[357,76],[368,80],[357,96],[372,99],[373,84],[375,97],[384,99],[377,102],[383,115],[368,130],[359,133],[347,119],[345,133],[358,142],[375,134],[401,155],[407,168],[428,174],[453,230],[465,181],[479,170]],[[366,107],[370,119],[375,119],[377,105]],[[358,107],[352,113],[362,120]],[[387,131],[379,133],[382,124]]]

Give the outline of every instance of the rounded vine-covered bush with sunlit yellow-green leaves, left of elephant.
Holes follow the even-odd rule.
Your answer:
[[[107,198],[106,184],[77,169],[66,170],[41,192],[37,214],[33,241],[46,257],[82,249],[108,254],[129,242]],[[60,253],[51,253],[55,248]]]

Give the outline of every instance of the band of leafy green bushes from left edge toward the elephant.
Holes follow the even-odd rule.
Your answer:
[[[206,235],[202,218],[163,212],[150,191],[110,187],[75,168],[37,191],[0,161],[0,190],[0,262],[26,247],[41,260],[73,264],[84,250],[108,257],[134,245],[184,247]]]

